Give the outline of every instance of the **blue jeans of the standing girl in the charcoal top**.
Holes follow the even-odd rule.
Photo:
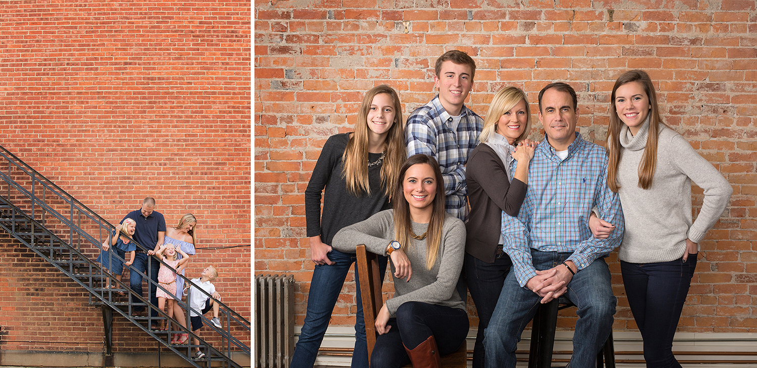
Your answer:
[[[313,280],[310,281],[310,292],[307,294],[307,313],[302,325],[300,339],[294,347],[291,365],[293,367],[313,366],[316,363],[318,348],[321,346],[326,328],[329,327],[334,305],[344,285],[344,277],[350,271],[352,264],[357,261],[354,253],[339,252],[332,249],[329,259],[335,264],[316,264],[313,270]],[[378,273],[382,283],[386,273],[387,257],[378,257]],[[357,293],[357,314],[355,315],[355,348],[352,353],[352,366],[368,366],[368,343],[366,342],[366,325],[363,320],[363,298],[360,298],[360,280],[355,272],[355,286]]]

